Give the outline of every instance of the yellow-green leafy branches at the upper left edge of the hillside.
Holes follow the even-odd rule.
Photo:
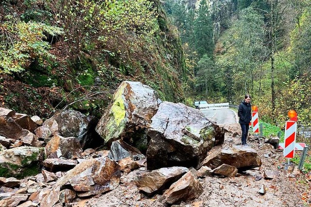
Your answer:
[[[11,18],[11,17],[7,17]],[[44,33],[62,34],[62,29],[37,22],[6,20],[0,30],[0,73],[21,72],[32,61],[42,63],[53,58],[50,45],[43,41]]]

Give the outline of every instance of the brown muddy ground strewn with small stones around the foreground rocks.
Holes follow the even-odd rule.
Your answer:
[[[222,146],[214,147],[211,152],[240,144],[241,136],[232,137],[240,132],[239,124],[224,125],[231,133],[225,134]],[[278,150],[263,150],[256,141],[248,141],[250,147],[257,150],[262,161],[260,168],[238,173],[233,178],[211,176],[199,178],[204,192],[195,200],[182,202],[181,207],[311,207],[311,183],[304,174],[297,171],[297,166],[287,165],[287,160]],[[265,157],[264,155],[273,155]],[[295,168],[294,168],[295,167]],[[276,179],[263,178],[265,170],[279,171]],[[159,202],[161,195],[152,198],[140,193],[131,180],[144,169],[123,174],[121,184],[115,190],[103,195],[80,200],[74,207],[165,207]],[[262,177],[260,179],[260,177]],[[266,193],[258,193],[264,185]],[[304,200],[303,200],[304,198]]]

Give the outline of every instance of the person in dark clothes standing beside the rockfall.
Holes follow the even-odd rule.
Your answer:
[[[242,129],[242,145],[246,145],[246,138],[248,135],[248,129],[249,129],[249,122],[252,119],[251,115],[251,96],[249,94],[246,94],[244,97],[244,101],[239,105],[239,110],[238,110],[238,116],[240,117],[239,123],[241,125]]]

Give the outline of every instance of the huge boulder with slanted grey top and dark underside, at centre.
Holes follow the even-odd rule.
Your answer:
[[[214,142],[224,141],[223,128],[185,104],[162,102],[147,133],[148,170],[162,167],[195,167]]]

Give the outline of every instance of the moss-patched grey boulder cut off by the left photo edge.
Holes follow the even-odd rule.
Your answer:
[[[25,177],[37,174],[44,148],[17,147],[0,153],[0,177]]]

